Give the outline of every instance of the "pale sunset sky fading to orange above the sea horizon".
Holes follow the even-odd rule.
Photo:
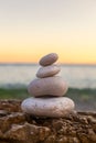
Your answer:
[[[1,0],[0,62],[96,64],[96,0]]]

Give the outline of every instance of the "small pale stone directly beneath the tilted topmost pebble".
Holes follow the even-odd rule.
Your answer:
[[[40,67],[36,73],[36,77],[39,78],[51,77],[58,74],[61,68],[57,65]]]

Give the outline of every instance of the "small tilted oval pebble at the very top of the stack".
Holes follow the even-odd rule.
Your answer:
[[[51,54],[47,54],[45,56],[43,56],[39,64],[41,66],[47,66],[47,65],[52,65],[53,63],[55,63],[56,61],[58,59],[58,55],[56,53],[51,53]]]

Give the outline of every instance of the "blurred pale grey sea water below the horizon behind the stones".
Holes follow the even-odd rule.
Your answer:
[[[0,64],[0,87],[28,86],[38,69],[33,64]],[[58,75],[72,88],[96,88],[96,66],[61,65]]]

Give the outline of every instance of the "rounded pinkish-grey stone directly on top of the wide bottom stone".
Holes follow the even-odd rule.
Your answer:
[[[66,82],[58,76],[36,78],[28,86],[28,91],[33,97],[64,96],[67,91]]]

